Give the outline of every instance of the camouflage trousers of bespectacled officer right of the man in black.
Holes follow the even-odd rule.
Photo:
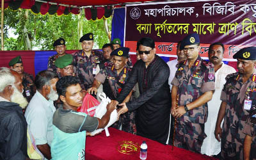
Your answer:
[[[174,140],[175,147],[200,153],[205,138],[204,124],[193,124],[177,120]]]

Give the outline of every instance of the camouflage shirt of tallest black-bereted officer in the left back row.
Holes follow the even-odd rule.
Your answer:
[[[74,72],[80,80],[81,87],[84,90],[92,87],[94,74],[93,69],[96,70],[98,63],[104,60],[103,54],[99,51],[92,51],[90,57],[86,56],[83,51],[72,53]]]

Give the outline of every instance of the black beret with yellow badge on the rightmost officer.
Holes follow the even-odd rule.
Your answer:
[[[256,47],[245,47],[240,49],[236,54],[234,54],[233,58],[239,58],[241,60],[256,60]]]

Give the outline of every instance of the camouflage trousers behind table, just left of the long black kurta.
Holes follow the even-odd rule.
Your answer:
[[[120,129],[122,125],[122,131],[129,132],[132,134],[136,134],[136,124],[135,124],[135,114],[136,111],[127,112],[123,115],[120,115],[118,121],[115,124],[111,125],[111,127],[115,129]]]

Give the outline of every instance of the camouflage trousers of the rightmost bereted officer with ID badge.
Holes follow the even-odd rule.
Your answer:
[[[243,145],[221,140],[221,159],[243,159]]]

